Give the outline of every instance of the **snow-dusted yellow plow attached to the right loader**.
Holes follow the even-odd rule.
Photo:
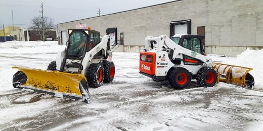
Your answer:
[[[254,78],[248,72],[251,68],[239,67],[223,63],[213,63],[213,69],[217,72],[217,83],[226,82],[227,84],[235,84],[238,86],[252,88],[254,86]]]

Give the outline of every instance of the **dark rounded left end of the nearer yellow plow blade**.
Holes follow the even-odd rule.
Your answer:
[[[21,88],[20,86],[25,84],[27,81],[27,76],[25,73],[18,71],[14,76],[13,76],[13,87],[14,88]]]

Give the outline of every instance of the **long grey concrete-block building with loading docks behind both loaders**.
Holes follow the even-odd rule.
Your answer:
[[[85,24],[102,35],[116,27],[123,45],[117,51],[143,50],[146,36],[203,34],[207,54],[236,56],[247,48],[263,48],[263,1],[179,0],[100,17],[58,24],[60,44],[69,28]]]

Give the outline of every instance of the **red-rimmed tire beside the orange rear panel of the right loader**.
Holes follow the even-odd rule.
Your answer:
[[[184,89],[190,85],[191,75],[185,68],[171,69],[168,81],[173,88]]]

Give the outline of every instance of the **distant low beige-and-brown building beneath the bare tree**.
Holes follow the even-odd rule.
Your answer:
[[[36,31],[30,29],[19,29],[12,31],[11,35],[14,40],[18,41],[38,41],[42,40],[42,36],[37,35]],[[57,37],[57,31],[46,31],[46,38],[55,40]]]

